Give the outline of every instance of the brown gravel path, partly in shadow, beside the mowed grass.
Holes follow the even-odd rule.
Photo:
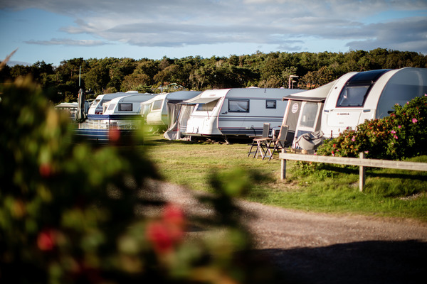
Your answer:
[[[157,185],[187,214],[207,210],[184,187]],[[267,253],[290,283],[426,283],[427,224],[239,205],[257,251]]]

